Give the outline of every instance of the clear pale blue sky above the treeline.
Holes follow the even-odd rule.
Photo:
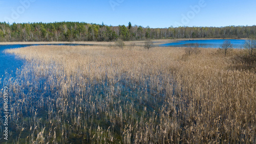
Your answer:
[[[104,22],[151,28],[256,25],[255,0],[0,0],[0,21]]]

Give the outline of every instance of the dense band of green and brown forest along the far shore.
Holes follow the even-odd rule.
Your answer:
[[[113,41],[169,38],[249,38],[256,26],[169,27],[106,26],[86,22],[12,23],[0,22],[0,41]]]

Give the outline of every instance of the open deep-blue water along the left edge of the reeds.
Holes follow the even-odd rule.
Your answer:
[[[4,51],[6,49],[15,49],[15,48],[19,48],[19,47],[26,47],[26,46],[32,46],[32,45],[89,45],[89,44],[10,44],[10,45],[0,45],[0,89],[1,90],[1,94],[3,94],[3,89],[5,89],[4,86],[7,86],[8,84],[8,80],[9,79],[14,79],[14,80],[17,80],[17,76],[19,74],[16,74],[16,70],[17,69],[22,69],[22,67],[24,65],[26,65],[26,60],[24,59],[20,59],[18,58],[17,56],[13,55],[13,54],[7,54],[5,53]],[[17,75],[17,76],[16,76]],[[5,80],[6,79],[6,80]],[[9,87],[9,86],[8,86]],[[31,88],[31,87],[24,87],[23,91],[25,93],[28,93],[28,88]],[[39,92],[34,92],[34,94],[36,96],[39,95]],[[9,95],[9,99],[8,99],[8,110],[10,110],[11,106],[10,105],[13,105],[15,103],[14,100],[12,100],[12,98],[19,98],[20,95],[15,95],[13,93],[13,91],[11,89],[8,90],[8,95]],[[38,100],[38,98],[36,97],[33,97],[35,98],[35,100]],[[0,101],[0,105],[3,106],[3,97]],[[3,108],[3,107],[2,107]],[[42,111],[42,112],[39,112],[38,114],[44,118],[45,114],[44,113],[45,111],[43,111],[42,109],[38,110],[38,111]],[[22,112],[21,112],[22,113]],[[27,113],[22,113],[23,114],[23,121],[24,122],[27,122],[29,118],[31,118],[32,114],[27,112]],[[1,109],[1,117],[3,118],[4,116],[4,113],[3,113],[3,109]],[[9,115],[10,116],[10,115]],[[1,118],[1,119],[2,119]],[[16,141],[17,141],[17,137],[20,137],[20,139],[25,139],[29,134],[27,132],[24,131],[24,133],[19,133],[17,130],[16,130],[16,127],[15,125],[13,124],[13,122],[11,121],[11,118],[9,117],[9,124],[8,124],[8,130],[9,130],[9,135],[8,135],[8,141],[4,140],[3,138],[0,139],[0,143],[14,143],[15,141],[15,138],[16,138]],[[3,121],[2,121],[3,122]],[[1,131],[4,130],[4,125],[1,124]]]

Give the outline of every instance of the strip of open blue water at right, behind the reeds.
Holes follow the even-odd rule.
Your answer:
[[[174,47],[194,47],[195,43],[199,44],[199,47],[204,48],[219,48],[225,39],[209,39],[209,40],[181,40],[173,43],[160,44],[160,46],[174,46]],[[233,44],[233,48],[241,49],[246,40],[242,39],[230,39]]]

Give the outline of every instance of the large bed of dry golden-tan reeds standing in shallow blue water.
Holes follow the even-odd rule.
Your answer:
[[[255,143],[256,75],[235,53],[108,46],[9,49],[13,143]],[[2,109],[2,108],[1,108]],[[1,110],[2,112],[3,110]],[[3,127],[1,127],[3,130]]]

